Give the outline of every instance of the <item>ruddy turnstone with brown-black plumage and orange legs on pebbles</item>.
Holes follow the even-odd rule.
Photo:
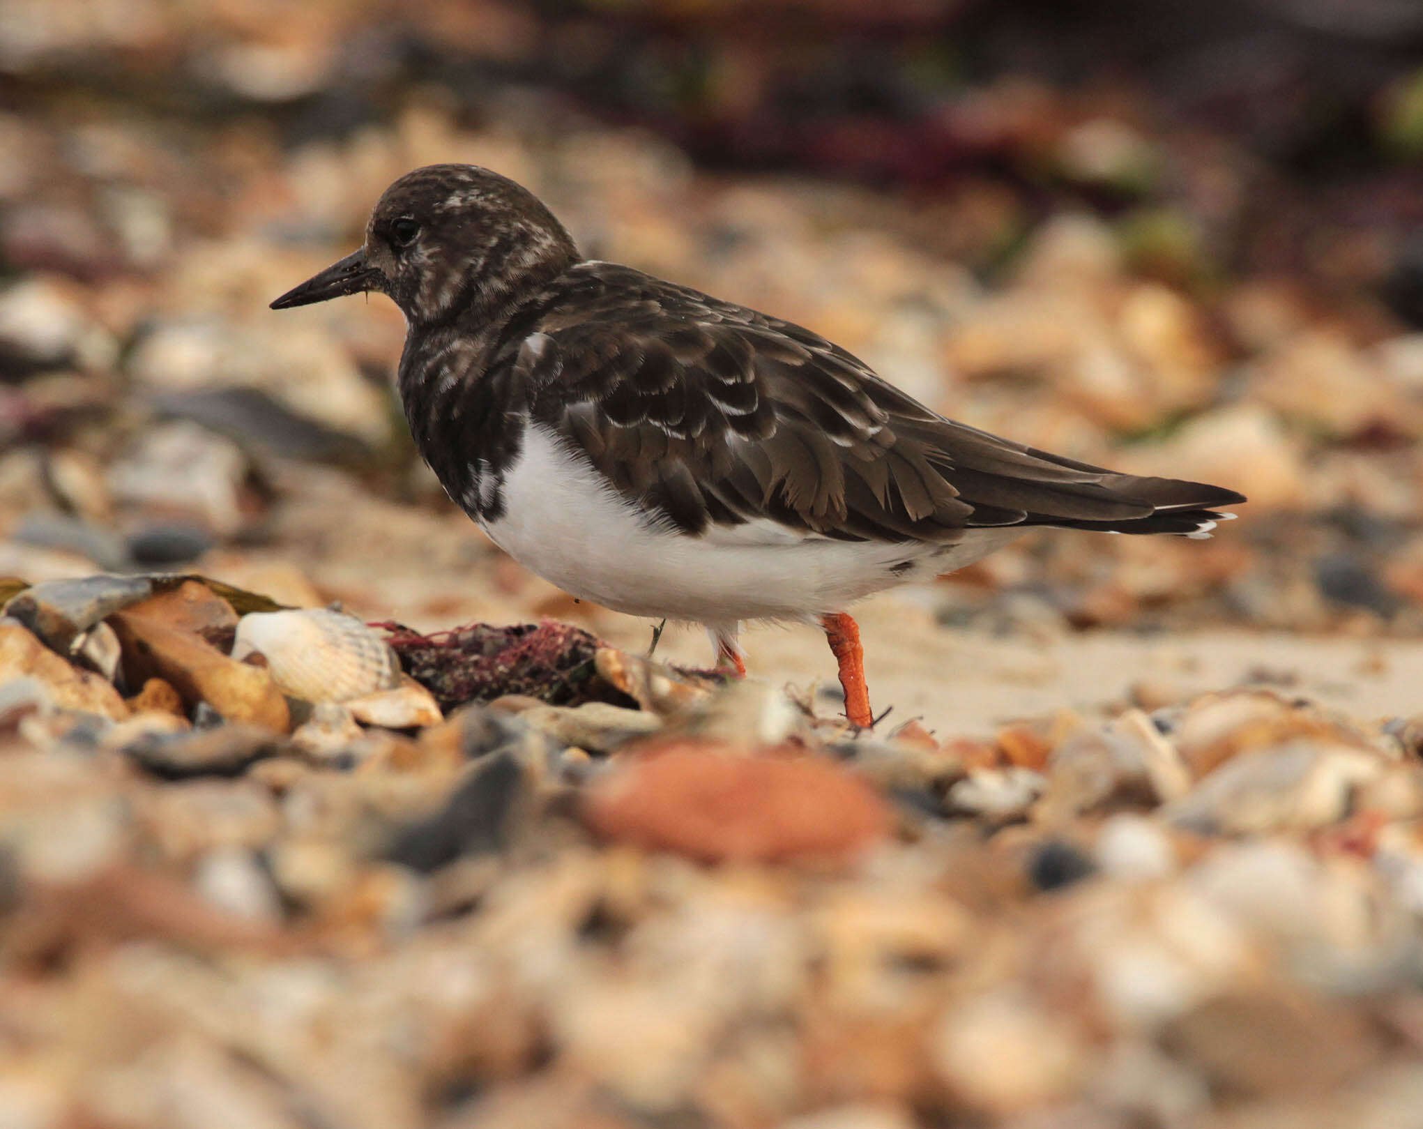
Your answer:
[[[361,290],[408,333],[398,387],[450,497],[575,597],[706,625],[818,618],[872,720],[845,609],[1033,525],[1204,537],[1234,490],[1141,478],[939,416],[801,326],[583,259],[525,188],[430,165],[364,245],[273,309]]]

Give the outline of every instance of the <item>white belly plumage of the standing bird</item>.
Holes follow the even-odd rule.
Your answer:
[[[1022,532],[975,530],[958,545],[932,547],[804,537],[767,520],[687,537],[649,523],[538,424],[505,476],[504,517],[484,530],[571,595],[713,626],[844,611],[872,592],[972,564]]]

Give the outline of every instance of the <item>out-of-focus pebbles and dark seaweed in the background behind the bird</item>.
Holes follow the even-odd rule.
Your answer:
[[[1025,538],[941,624],[1423,628],[1412,0],[0,0],[0,575],[599,626],[417,464],[388,302],[266,309],[471,161],[956,419],[1251,498]]]

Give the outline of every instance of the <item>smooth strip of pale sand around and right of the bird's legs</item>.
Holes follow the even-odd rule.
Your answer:
[[[942,628],[898,594],[855,609],[875,710],[888,723],[922,718],[942,735],[976,733],[1016,718],[1059,709],[1120,706],[1140,688],[1150,705],[1245,682],[1313,698],[1360,718],[1417,710],[1423,644],[1312,639],[1285,634],[1205,631],[1141,636],[1086,632],[1052,639],[995,638]],[[605,629],[626,646],[646,642],[646,626]],[[743,636],[754,676],[808,686],[834,685],[834,663],[813,626],[751,629]],[[669,628],[675,661],[706,662],[696,631]],[[659,648],[660,652],[660,648]],[[825,709],[832,709],[825,703]]]

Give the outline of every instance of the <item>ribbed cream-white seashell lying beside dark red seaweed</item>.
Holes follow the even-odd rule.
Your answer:
[[[400,685],[400,661],[354,615],[327,608],[249,612],[238,621],[232,658],[259,653],[283,693],[346,702]]]

